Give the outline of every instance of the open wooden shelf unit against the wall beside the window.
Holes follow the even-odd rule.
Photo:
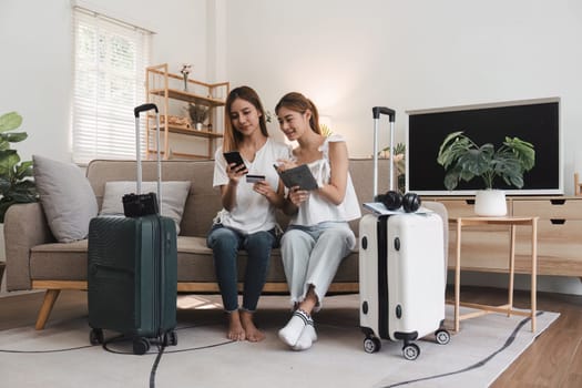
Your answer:
[[[167,71],[167,63],[146,68],[145,90],[147,102],[153,102],[160,110],[161,154],[167,159],[212,159],[216,141],[223,137],[226,96],[229,92],[228,82],[206,83],[187,79],[187,90],[182,74]],[[202,130],[194,129],[190,123],[187,104],[195,103],[208,106],[208,118]],[[182,104],[182,105],[181,105]],[[174,113],[174,115],[170,113]],[[176,114],[177,112],[177,114]],[[181,123],[172,123],[173,118],[182,119]],[[206,152],[181,152],[172,150],[171,134],[193,136],[205,141]],[[146,157],[155,156],[155,116],[149,115],[145,136]]]

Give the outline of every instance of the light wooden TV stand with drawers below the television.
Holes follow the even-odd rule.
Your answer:
[[[473,196],[422,196],[447,207],[449,219],[473,216]],[[538,274],[582,280],[582,196],[508,196],[508,216],[538,216]],[[456,225],[449,226],[449,269],[455,268]],[[515,273],[531,270],[531,232],[517,227]],[[462,270],[506,273],[508,232],[499,225],[463,228]]]

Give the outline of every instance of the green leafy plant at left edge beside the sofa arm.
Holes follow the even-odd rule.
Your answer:
[[[17,112],[0,116],[0,223],[4,222],[6,211],[16,203],[37,202],[39,196],[32,180],[32,161],[21,162],[10,143],[28,137],[25,132],[11,132],[22,124]]]

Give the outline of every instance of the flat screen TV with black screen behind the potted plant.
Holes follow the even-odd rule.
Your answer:
[[[406,190],[420,195],[472,195],[483,188],[480,177],[461,181],[456,190],[445,187],[445,170],[437,154],[445,137],[464,133],[478,145],[492,143],[496,150],[506,136],[533,144],[535,165],[523,175],[522,188],[496,181],[508,195],[563,194],[560,99],[508,101],[489,104],[407,111]]]

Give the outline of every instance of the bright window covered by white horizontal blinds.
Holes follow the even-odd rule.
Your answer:
[[[73,17],[73,162],[135,159],[133,109],[145,102],[151,32],[81,8]]]

